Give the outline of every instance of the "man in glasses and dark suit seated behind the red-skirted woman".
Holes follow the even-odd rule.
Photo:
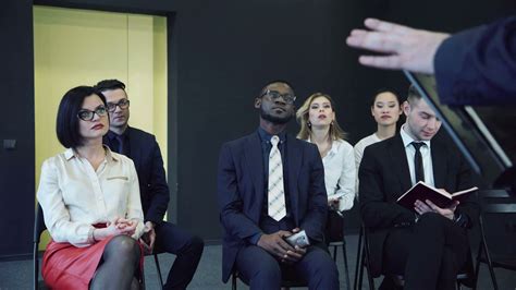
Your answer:
[[[103,143],[133,159],[136,167],[145,216],[145,234],[140,242],[149,252],[156,249],[176,255],[164,289],[186,289],[202,255],[204,241],[174,223],[163,221],[170,201],[163,159],[152,134],[128,125],[130,100],[125,84],[105,80],[97,84],[96,89],[108,101],[110,131]]]

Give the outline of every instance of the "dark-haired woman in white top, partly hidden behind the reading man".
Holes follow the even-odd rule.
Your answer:
[[[396,134],[396,123],[402,113],[400,97],[395,93],[389,89],[380,89],[377,92],[371,104],[371,114],[377,122],[377,132],[361,138],[355,144],[354,150],[357,169],[360,166],[361,156],[367,146],[390,138]]]

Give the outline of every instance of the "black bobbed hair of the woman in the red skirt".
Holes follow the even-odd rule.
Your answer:
[[[78,132],[79,119],[78,111],[82,109],[83,101],[86,97],[98,95],[105,106],[106,97],[95,90],[91,86],[77,86],[64,94],[58,109],[58,119],[56,122],[56,132],[58,140],[66,148],[75,148],[83,145],[83,137]]]

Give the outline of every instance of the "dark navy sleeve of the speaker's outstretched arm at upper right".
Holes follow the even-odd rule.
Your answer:
[[[434,67],[443,104],[516,104],[516,16],[447,38]]]

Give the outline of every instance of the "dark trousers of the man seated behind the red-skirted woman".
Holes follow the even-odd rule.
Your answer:
[[[197,269],[204,247],[202,239],[174,223],[163,221],[156,227],[156,251],[176,255],[164,289],[186,289]]]

